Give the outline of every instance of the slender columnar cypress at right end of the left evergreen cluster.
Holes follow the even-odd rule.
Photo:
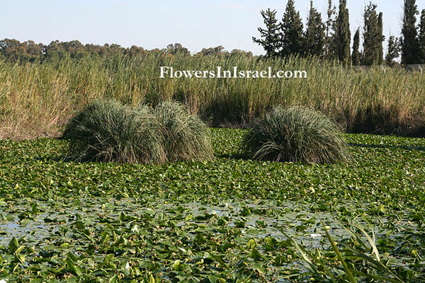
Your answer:
[[[336,18],[335,33],[338,59],[344,65],[351,64],[351,32],[348,18],[348,8],[346,8],[346,5],[346,0],[339,0],[339,12],[338,17]]]

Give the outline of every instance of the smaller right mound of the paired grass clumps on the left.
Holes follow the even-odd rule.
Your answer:
[[[181,103],[163,102],[154,109],[168,161],[205,161],[213,156],[210,132]]]

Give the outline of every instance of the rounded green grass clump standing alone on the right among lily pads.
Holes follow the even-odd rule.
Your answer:
[[[339,128],[320,112],[275,107],[244,139],[251,158],[268,161],[335,163],[348,161]]]

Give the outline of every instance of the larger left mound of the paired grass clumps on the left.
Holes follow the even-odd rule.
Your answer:
[[[74,116],[63,134],[69,157],[77,161],[164,163],[157,121],[147,108],[96,100]]]

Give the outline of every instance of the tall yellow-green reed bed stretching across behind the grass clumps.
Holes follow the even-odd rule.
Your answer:
[[[161,66],[305,70],[307,79],[159,79]],[[0,62],[0,137],[57,135],[70,117],[96,98],[132,106],[178,100],[214,126],[249,125],[274,105],[298,105],[323,112],[348,132],[421,135],[424,76],[403,69],[344,69],[316,58],[261,61],[160,52],[59,63]]]

